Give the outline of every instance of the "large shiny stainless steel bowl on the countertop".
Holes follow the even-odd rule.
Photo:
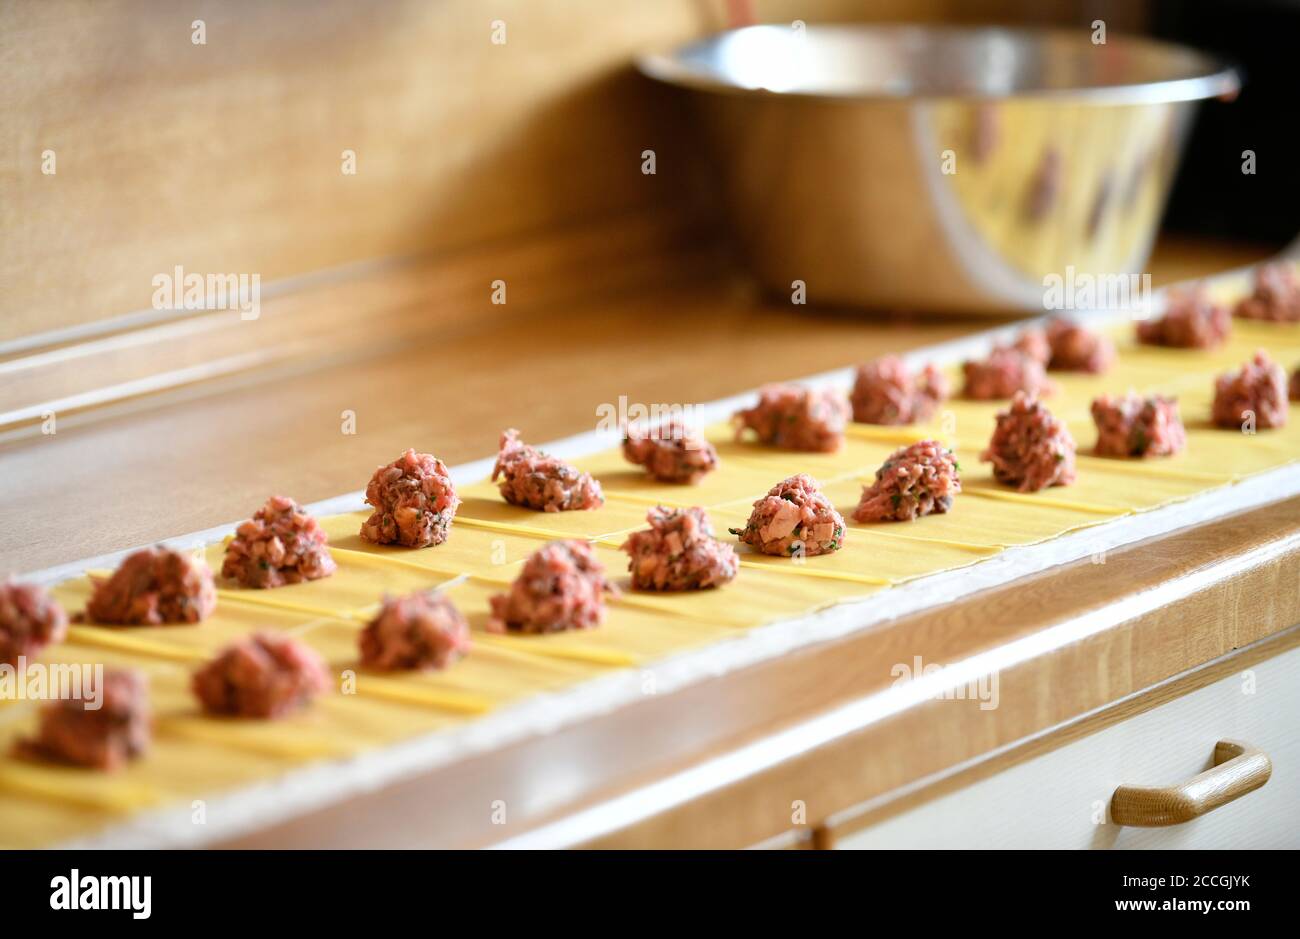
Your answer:
[[[810,303],[1044,307],[1138,273],[1196,103],[1234,69],[1092,34],[754,26],[640,61],[686,88],[758,280]]]

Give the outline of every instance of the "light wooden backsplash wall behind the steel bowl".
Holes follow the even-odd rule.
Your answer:
[[[754,10],[1122,30],[1132,7]],[[630,61],[727,23],[727,0],[0,0],[0,349],[148,311],[177,264],[269,285],[707,202],[679,104]]]

